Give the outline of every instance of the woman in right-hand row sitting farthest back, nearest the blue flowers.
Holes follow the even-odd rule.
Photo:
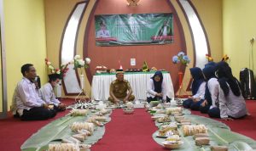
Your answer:
[[[193,110],[199,110],[202,103],[202,99],[205,96],[206,81],[202,75],[200,68],[190,68],[190,73],[193,78],[192,82],[192,97],[183,101],[184,108],[190,108]]]

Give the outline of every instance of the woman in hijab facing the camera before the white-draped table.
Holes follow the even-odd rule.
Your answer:
[[[154,73],[154,76],[150,78],[147,86],[147,101],[163,100],[170,101],[170,98],[166,95],[166,82],[163,81],[163,74],[160,70]]]

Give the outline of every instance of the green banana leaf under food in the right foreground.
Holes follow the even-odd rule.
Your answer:
[[[187,117],[188,116],[188,117]],[[230,128],[224,123],[217,120],[208,119],[198,115],[186,115],[188,119],[194,124],[204,124],[208,128],[208,135],[210,138],[210,145],[196,146],[195,140],[192,136],[183,137],[183,132],[181,128],[178,128],[183,145],[181,148],[175,149],[179,151],[200,151],[206,150],[210,151],[211,146],[224,145],[229,148],[229,150],[241,151],[241,150],[252,150],[256,148],[256,142],[249,137],[243,136],[234,131],[230,131]],[[158,131],[155,131],[152,137],[156,143],[162,145],[162,142],[166,138],[156,137]],[[163,145],[162,145],[163,146]]]

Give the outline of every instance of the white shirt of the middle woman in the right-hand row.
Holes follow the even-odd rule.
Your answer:
[[[211,78],[208,81],[207,86],[208,86],[209,92],[211,93],[212,106],[210,107],[210,109],[212,109],[214,107],[217,107],[216,104],[219,103],[219,101],[218,101],[218,86],[219,86],[218,79]]]

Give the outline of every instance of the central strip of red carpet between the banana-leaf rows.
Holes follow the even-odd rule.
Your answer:
[[[92,151],[166,150],[154,142],[152,134],[157,127],[145,109],[136,109],[133,115],[124,115],[122,109],[115,109],[111,119],[104,137],[92,146]]]

